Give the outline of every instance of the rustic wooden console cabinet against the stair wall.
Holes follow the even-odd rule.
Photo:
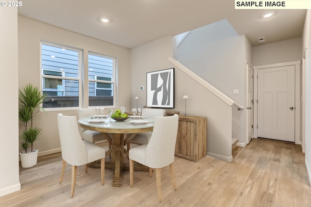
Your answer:
[[[175,155],[199,161],[207,155],[207,117],[179,115]]]

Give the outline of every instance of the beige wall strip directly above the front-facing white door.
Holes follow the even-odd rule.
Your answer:
[[[301,60],[301,37],[253,47],[253,65],[286,63]]]

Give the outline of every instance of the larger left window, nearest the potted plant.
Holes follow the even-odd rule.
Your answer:
[[[41,87],[49,97],[43,108],[79,106],[81,53],[41,43]]]

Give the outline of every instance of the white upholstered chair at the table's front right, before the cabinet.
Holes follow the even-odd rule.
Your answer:
[[[156,116],[154,130],[148,144],[142,144],[129,151],[130,186],[133,187],[134,161],[155,169],[156,187],[159,202],[161,194],[161,168],[170,166],[173,188],[176,191],[174,177],[174,153],[178,129],[178,115]],[[149,171],[150,172],[150,171]]]

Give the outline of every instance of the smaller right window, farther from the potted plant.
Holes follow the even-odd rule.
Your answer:
[[[88,54],[88,105],[114,106],[115,58]]]

